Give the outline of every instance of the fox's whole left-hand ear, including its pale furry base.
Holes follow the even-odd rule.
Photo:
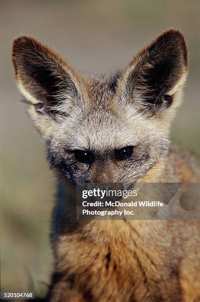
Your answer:
[[[56,118],[81,98],[83,81],[55,51],[30,36],[14,40],[12,61],[28,113],[47,137]]]

